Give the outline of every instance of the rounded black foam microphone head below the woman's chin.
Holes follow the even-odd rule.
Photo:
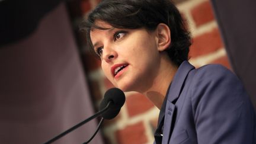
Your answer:
[[[100,110],[103,110],[110,101],[111,103],[108,110],[101,115],[107,120],[113,119],[117,116],[117,114],[119,114],[119,111],[121,110],[121,107],[125,101],[124,92],[119,88],[108,89],[104,94],[103,100],[101,101]]]

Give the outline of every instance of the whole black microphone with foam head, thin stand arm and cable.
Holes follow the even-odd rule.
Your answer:
[[[108,89],[108,91],[105,92],[105,94],[104,94],[103,100],[101,101],[100,111],[98,111],[98,113],[95,113],[88,119],[82,121],[81,123],[76,124],[75,126],[71,127],[70,129],[66,130],[65,132],[60,133],[56,137],[53,137],[53,139],[50,139],[49,141],[47,141],[44,144],[49,144],[49,143],[55,142],[60,137],[65,136],[69,132],[72,132],[76,128],[82,126],[83,124],[87,123],[88,121],[101,115],[102,118],[101,118],[100,124],[97,127],[96,132],[94,133],[94,135],[92,135],[91,138],[89,138],[89,140],[87,142],[85,142],[85,143],[89,143],[93,139],[93,137],[96,135],[98,130],[100,129],[100,125],[104,119],[110,120],[110,119],[113,119],[114,117],[116,117],[117,114],[119,114],[119,111],[121,110],[121,107],[123,106],[124,101],[125,101],[125,95],[124,95],[123,91],[121,91],[119,88]]]

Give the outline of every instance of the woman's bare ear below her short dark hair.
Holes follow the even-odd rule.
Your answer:
[[[162,52],[166,50],[171,44],[171,30],[168,25],[164,23],[158,24],[156,27],[157,45],[158,51]]]

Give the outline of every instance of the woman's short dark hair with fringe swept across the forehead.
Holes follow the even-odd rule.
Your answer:
[[[116,28],[146,28],[155,30],[159,23],[167,24],[171,30],[171,44],[166,50],[168,56],[180,66],[188,60],[191,35],[185,27],[180,12],[169,0],[104,0],[81,24],[86,31],[87,43],[92,50],[91,28],[99,28],[96,20],[105,21]]]

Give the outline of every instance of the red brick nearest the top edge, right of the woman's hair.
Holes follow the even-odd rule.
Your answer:
[[[196,27],[215,20],[213,9],[209,1],[202,2],[191,10],[191,15],[196,23]]]

